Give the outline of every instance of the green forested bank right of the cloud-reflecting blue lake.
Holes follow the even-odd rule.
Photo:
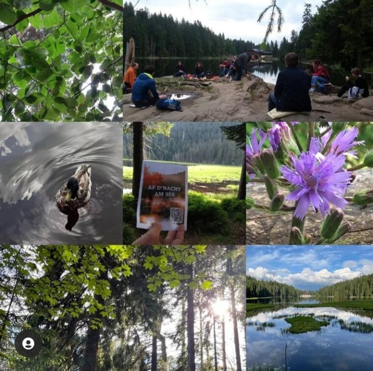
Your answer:
[[[336,298],[373,296],[373,274],[323,287],[318,294]]]

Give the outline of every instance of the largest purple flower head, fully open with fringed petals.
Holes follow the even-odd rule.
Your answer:
[[[280,169],[284,177],[296,187],[286,199],[298,201],[294,216],[300,220],[304,219],[310,204],[314,212],[320,210],[322,216],[330,211],[329,204],[341,209],[348,204],[343,196],[351,176],[343,169],[345,156],[315,156],[316,145],[319,144],[316,138],[313,139],[309,152],[302,153],[299,159],[291,156],[294,168],[283,165]]]

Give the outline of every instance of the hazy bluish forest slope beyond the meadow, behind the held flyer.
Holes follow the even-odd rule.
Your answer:
[[[217,165],[242,165],[243,150],[236,142],[227,140],[222,126],[237,124],[174,123],[169,135],[152,136],[146,149],[150,160]],[[123,136],[123,158],[133,158],[132,135]]]

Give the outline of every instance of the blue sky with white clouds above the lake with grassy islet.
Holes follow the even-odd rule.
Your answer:
[[[301,290],[373,273],[373,246],[247,246],[246,274]]]

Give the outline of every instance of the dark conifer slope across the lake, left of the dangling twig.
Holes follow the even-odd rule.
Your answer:
[[[218,57],[259,48],[252,41],[226,39],[224,33],[216,35],[199,21],[189,23],[171,15],[150,14],[146,8],[135,11],[128,2],[124,4],[124,24],[124,40],[133,37],[139,57]]]

